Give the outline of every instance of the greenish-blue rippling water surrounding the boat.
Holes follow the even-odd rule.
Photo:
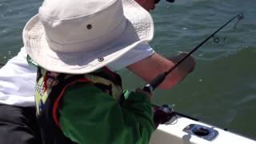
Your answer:
[[[0,62],[16,55],[22,46],[22,28],[42,1],[0,0]],[[236,29],[231,22],[193,54],[197,67],[172,90],[155,90],[154,102],[170,103],[175,110],[238,134],[256,137],[256,1],[177,0],[160,2],[152,12],[154,40],[166,57],[190,51],[236,14],[245,19]],[[124,87],[134,90],[145,82],[128,70]],[[136,81],[130,81],[135,79]]]

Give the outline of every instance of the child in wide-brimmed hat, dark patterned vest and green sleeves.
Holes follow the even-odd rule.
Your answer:
[[[107,65],[153,34],[150,14],[134,0],[44,1],[23,30],[29,62],[38,66],[43,143],[148,143],[152,95],[123,93]]]

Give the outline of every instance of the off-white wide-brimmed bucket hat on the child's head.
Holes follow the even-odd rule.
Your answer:
[[[85,74],[153,35],[150,14],[134,0],[45,0],[26,23],[23,41],[46,70]]]

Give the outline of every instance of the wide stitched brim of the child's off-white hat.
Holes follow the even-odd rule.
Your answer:
[[[150,14],[134,0],[122,0],[126,17],[126,29],[120,37],[107,46],[91,52],[68,53],[54,51],[46,41],[44,28],[35,15],[26,23],[23,42],[30,58],[46,70],[85,74],[98,70],[126,54],[141,42],[149,42],[154,35],[154,24]],[[139,14],[139,15],[138,15]]]

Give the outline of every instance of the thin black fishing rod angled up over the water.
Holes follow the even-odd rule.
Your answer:
[[[177,66],[179,66],[184,60],[186,60],[186,58],[188,58],[191,54],[194,53],[195,50],[198,50],[204,43],[206,43],[210,38],[214,38],[214,35],[218,33],[219,30],[222,30],[222,28],[224,28],[227,24],[229,24],[230,22],[232,22],[235,18],[238,18],[238,22],[241,21],[244,16],[243,14],[237,14],[236,16],[234,16],[233,18],[231,18],[228,22],[226,22],[223,26],[221,26],[220,28],[218,28],[218,30],[214,31],[213,34],[210,34],[209,37],[207,37],[204,41],[202,41],[198,46],[194,47],[193,50],[191,50],[188,54],[186,54],[183,58],[181,58],[178,62],[176,62],[174,64],[174,66],[172,66],[170,68],[170,70],[167,70],[166,72],[162,73],[162,74],[158,74],[158,76],[156,78],[154,78],[152,80],[152,82],[148,83],[146,86],[143,87],[143,90],[147,91],[147,92],[153,92],[153,90],[155,88],[157,88],[165,79],[166,76],[168,74],[170,74],[170,72],[172,72]],[[234,29],[237,26],[238,22],[236,22],[236,24],[234,25]]]

